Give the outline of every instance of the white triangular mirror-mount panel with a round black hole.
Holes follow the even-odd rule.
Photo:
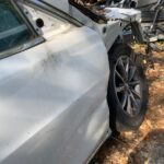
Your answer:
[[[68,21],[48,12],[48,9],[43,10],[39,8],[39,2],[37,4],[20,2],[19,5],[37,34],[46,39],[65,33],[72,26]]]

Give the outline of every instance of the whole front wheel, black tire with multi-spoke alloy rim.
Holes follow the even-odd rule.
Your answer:
[[[113,47],[109,52],[109,67],[107,99],[110,127],[114,131],[138,129],[144,119],[148,103],[144,71],[134,61],[132,49],[124,44]]]

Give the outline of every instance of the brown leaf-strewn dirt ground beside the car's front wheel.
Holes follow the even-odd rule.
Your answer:
[[[139,45],[134,48],[144,50]],[[147,71],[150,89],[143,125],[137,131],[108,139],[91,164],[164,164],[164,51],[154,52],[154,70]]]

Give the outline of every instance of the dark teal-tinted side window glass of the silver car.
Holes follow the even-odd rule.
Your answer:
[[[0,54],[33,38],[10,0],[0,0]]]

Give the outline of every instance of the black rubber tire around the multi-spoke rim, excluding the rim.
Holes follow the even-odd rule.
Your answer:
[[[137,129],[140,127],[144,119],[144,115],[147,112],[147,101],[148,101],[148,86],[147,86],[147,80],[143,72],[142,67],[139,63],[136,63],[137,70],[140,77],[141,82],[141,104],[140,104],[140,110],[139,114],[130,117],[128,114],[126,114],[117,98],[117,94],[115,91],[115,66],[121,56],[128,56],[133,60],[133,51],[129,46],[126,45],[117,45],[116,48],[114,48],[113,54],[110,54],[109,57],[109,63],[110,63],[110,80],[109,80],[109,90],[108,90],[108,99],[109,99],[109,107],[110,110],[113,110],[113,115],[115,115],[115,121],[116,121],[116,129],[117,130],[131,130]],[[133,61],[136,62],[136,61]],[[113,116],[112,116],[113,117]]]

